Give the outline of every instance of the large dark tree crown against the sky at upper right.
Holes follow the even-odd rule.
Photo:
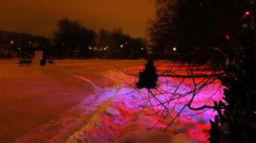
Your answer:
[[[159,53],[177,48],[185,62],[223,63],[215,48],[232,52],[241,16],[250,0],[155,0],[156,20],[149,27]],[[171,57],[170,57],[171,58]]]

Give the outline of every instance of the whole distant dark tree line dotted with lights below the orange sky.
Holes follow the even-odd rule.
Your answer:
[[[121,28],[96,32],[68,18],[58,21],[53,37],[55,46],[49,54],[55,58],[136,59],[152,53],[146,39],[124,34]]]

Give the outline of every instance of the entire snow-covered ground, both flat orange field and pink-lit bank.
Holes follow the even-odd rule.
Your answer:
[[[171,119],[152,129],[159,115],[141,107],[149,105],[148,91],[135,89],[134,77],[113,66],[135,73],[144,60],[62,60],[45,67],[16,62],[0,62],[1,143],[197,143],[208,138],[212,111],[179,118],[166,132]],[[159,90],[177,87],[177,79],[168,81],[160,79]],[[196,104],[204,104],[215,90],[206,88]]]

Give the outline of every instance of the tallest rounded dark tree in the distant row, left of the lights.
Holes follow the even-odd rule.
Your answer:
[[[57,23],[57,30],[54,32],[57,45],[57,56],[78,57],[88,56],[88,47],[94,46],[96,42],[96,32],[89,30],[78,21],[70,21],[64,18]]]

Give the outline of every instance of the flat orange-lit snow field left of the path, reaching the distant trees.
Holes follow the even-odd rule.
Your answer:
[[[64,111],[81,102],[86,95],[93,92],[95,87],[114,85],[109,79],[102,78],[103,71],[114,69],[113,65],[119,67],[143,65],[143,61],[128,60],[63,60],[56,61],[56,65],[45,67],[38,67],[35,64],[21,67],[17,61],[12,59],[0,62],[1,143],[9,143],[29,132],[35,133],[35,129],[43,126],[48,128],[48,131],[42,133],[45,134],[45,139],[49,139],[52,132],[62,128],[58,122],[65,118],[60,118],[61,116],[58,115],[65,114]],[[70,113],[76,118],[81,115],[79,109]],[[74,122],[76,118],[71,118],[72,125],[76,124]],[[47,127],[45,123],[54,120],[58,121],[55,127]],[[77,123],[79,122],[77,120]]]

